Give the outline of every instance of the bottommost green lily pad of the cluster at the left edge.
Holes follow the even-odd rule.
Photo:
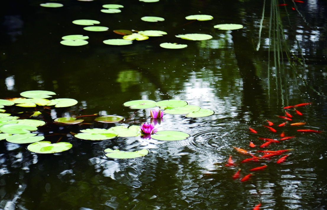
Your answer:
[[[52,144],[51,142],[42,141],[28,145],[27,149],[34,153],[49,154],[69,150],[70,148],[72,148],[72,146],[73,145],[68,142],[59,142]]]

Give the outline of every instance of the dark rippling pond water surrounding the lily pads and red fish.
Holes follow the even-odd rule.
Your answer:
[[[231,1],[51,1],[64,6],[41,7],[50,1],[14,0],[3,3],[0,46],[0,98],[19,97],[28,90],[47,90],[57,98],[74,98],[68,108],[43,109],[48,122],[40,127],[46,141],[73,144],[56,154],[34,154],[26,144],[0,141],[0,209],[54,210],[156,210],[156,209],[316,209],[327,207],[326,3],[318,0]],[[102,13],[104,4],[121,4],[121,13]],[[287,4],[283,6],[281,4]],[[210,21],[185,17],[207,14]],[[163,22],[145,22],[156,16]],[[92,32],[73,24],[79,19],[97,20],[108,31]],[[242,24],[223,31],[216,24]],[[113,46],[102,41],[122,38],[113,30],[161,30],[162,37]],[[176,38],[200,33],[204,41]],[[84,46],[64,46],[61,37],[89,36]],[[164,49],[164,42],[187,44],[185,49]],[[132,110],[130,100],[182,99],[211,109],[214,115],[187,118],[163,116],[158,130],[188,133],[186,140],[165,142],[140,137],[86,141],[73,137],[86,128],[110,128],[150,122],[150,110]],[[285,106],[298,107],[284,127]],[[8,113],[35,111],[12,106]],[[63,116],[114,114],[123,123],[56,126]],[[41,119],[35,117],[33,119]],[[263,125],[274,123],[276,133]],[[302,126],[291,123],[306,122]],[[258,133],[252,133],[249,127]],[[271,143],[258,137],[292,139]],[[52,135],[53,133],[64,135]],[[62,138],[60,138],[62,137]],[[252,141],[256,147],[249,147]],[[249,150],[293,149],[271,159],[242,163],[250,156],[233,147]],[[123,151],[148,149],[145,157],[111,159],[106,148]],[[276,161],[290,154],[283,163]],[[236,166],[227,167],[229,156]],[[263,154],[261,154],[263,155]],[[248,181],[232,179],[251,173]]]

